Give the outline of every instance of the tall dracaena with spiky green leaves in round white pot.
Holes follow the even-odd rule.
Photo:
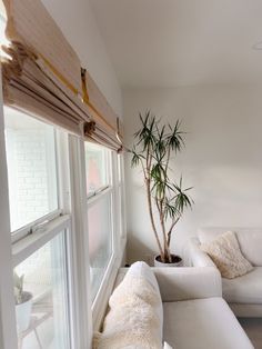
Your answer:
[[[171,237],[193,201],[188,196],[191,188],[182,188],[182,176],[174,182],[170,173],[173,156],[184,146],[184,132],[180,130],[179,120],[172,127],[162,124],[150,111],[139,117],[141,128],[134,133],[134,144],[129,151],[132,153],[131,166],[140,167],[143,173],[150,222],[159,249],[154,266],[180,266],[181,257],[170,251]]]

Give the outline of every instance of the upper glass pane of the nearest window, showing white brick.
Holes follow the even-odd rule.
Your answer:
[[[11,231],[58,208],[54,128],[4,108]]]

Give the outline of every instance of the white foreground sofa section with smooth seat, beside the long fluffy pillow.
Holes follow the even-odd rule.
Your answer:
[[[115,286],[127,270],[120,269]],[[152,268],[152,271],[163,305],[163,340],[173,349],[253,348],[221,297],[221,277],[215,268]]]

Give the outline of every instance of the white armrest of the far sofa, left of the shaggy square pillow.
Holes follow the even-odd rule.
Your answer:
[[[189,240],[189,258],[193,267],[213,267],[216,268],[212,259],[200,249],[200,241],[192,237]]]

